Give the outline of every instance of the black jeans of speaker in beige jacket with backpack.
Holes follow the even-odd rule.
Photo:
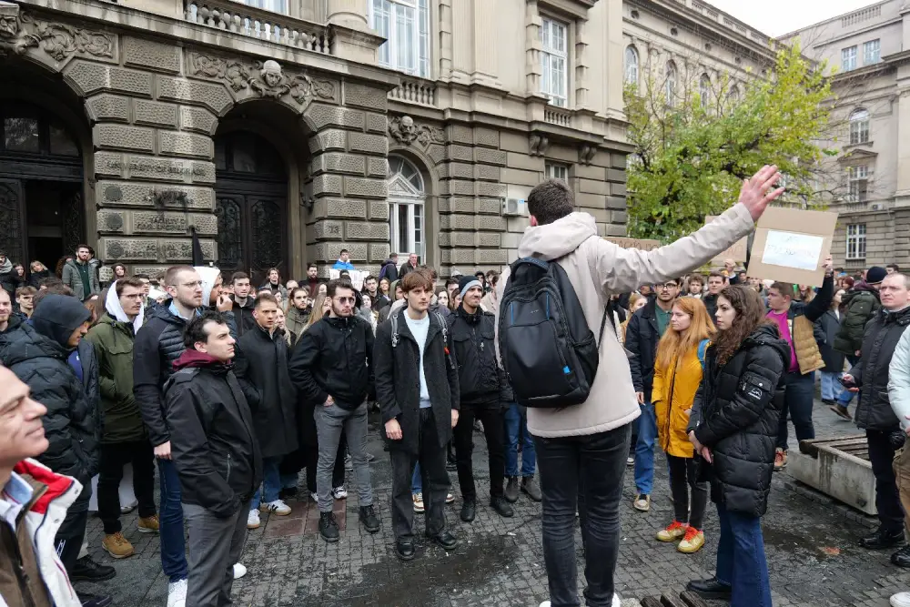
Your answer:
[[[543,558],[552,607],[581,605],[576,588],[576,506],[588,582],[586,604],[612,605],[613,572],[620,551],[622,476],[631,433],[631,424],[626,424],[588,436],[534,437],[543,493]]]

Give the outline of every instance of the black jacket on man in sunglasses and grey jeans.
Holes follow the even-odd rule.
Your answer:
[[[300,336],[288,371],[305,403],[331,396],[341,409],[357,409],[374,393],[373,328],[358,316],[322,317]]]

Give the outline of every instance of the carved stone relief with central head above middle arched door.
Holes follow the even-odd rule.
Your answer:
[[[300,106],[307,105],[313,97],[335,98],[335,83],[306,74],[286,74],[273,59],[248,65],[236,59],[194,55],[190,64],[194,76],[221,80],[235,93],[248,91],[268,99],[290,96]]]

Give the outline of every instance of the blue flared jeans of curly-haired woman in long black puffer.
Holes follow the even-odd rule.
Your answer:
[[[717,504],[721,537],[717,543],[717,581],[733,591],[730,607],[772,607],[768,561],[764,558],[762,520]]]

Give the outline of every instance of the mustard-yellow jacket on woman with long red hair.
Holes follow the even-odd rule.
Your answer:
[[[698,359],[698,345],[689,350],[682,363],[672,359],[668,369],[654,369],[652,401],[657,415],[657,435],[661,449],[678,458],[693,457],[694,449],[686,434],[695,392],[702,383],[702,363]]]

